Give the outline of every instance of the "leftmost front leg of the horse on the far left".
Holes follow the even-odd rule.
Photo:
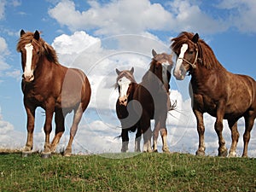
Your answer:
[[[35,124],[35,110],[36,107],[31,107],[24,103],[26,109],[26,146],[22,149],[22,153],[30,153],[33,148],[33,132],[34,132],[34,124]]]

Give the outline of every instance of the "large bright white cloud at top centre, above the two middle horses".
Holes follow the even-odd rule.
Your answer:
[[[96,34],[140,33],[148,29],[164,29],[170,15],[160,4],[148,0],[112,1],[101,5],[90,1],[90,9],[80,12],[72,1],[64,0],[49,15],[71,30],[96,29]],[[139,18],[139,19],[138,19]]]

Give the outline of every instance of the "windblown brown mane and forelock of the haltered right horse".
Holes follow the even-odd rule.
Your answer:
[[[174,52],[178,52],[181,49],[183,44],[188,44],[190,41],[192,42],[192,38],[194,37],[194,33],[192,32],[181,32],[177,38],[172,38],[171,49]],[[194,43],[193,43],[194,44]],[[198,39],[196,43],[198,46],[198,58],[201,60],[202,66],[207,69],[214,69],[217,67],[222,67],[222,65],[218,62],[216,56],[214,55],[211,47],[201,38]]]

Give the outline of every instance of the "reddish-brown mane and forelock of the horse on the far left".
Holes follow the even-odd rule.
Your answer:
[[[37,44],[40,47],[40,54],[45,55],[49,61],[54,62],[57,65],[60,64],[55,49],[51,45],[47,44],[43,38],[36,40],[33,32],[26,32],[20,37],[16,47],[17,51],[20,52],[26,44],[30,43]]]

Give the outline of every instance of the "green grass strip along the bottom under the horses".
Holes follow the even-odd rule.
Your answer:
[[[256,191],[256,159],[104,155],[0,154],[0,191]]]

